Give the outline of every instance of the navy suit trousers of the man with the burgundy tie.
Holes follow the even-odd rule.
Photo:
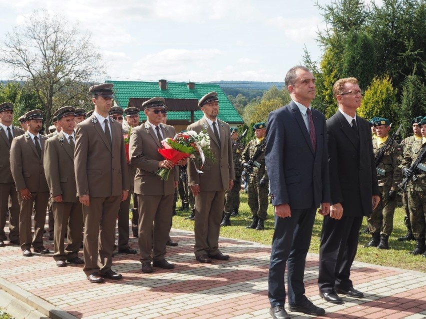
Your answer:
[[[268,298],[272,307],[284,306],[284,272],[287,266],[288,303],[297,304],[304,295],[303,274],[315,220],[314,207],[292,209],[291,216],[274,215],[275,230],[270,252]]]

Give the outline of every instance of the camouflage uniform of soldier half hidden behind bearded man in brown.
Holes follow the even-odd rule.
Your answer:
[[[232,160],[235,171],[235,180],[232,188],[226,192],[225,212],[238,212],[239,191],[241,189],[241,163],[240,156],[244,151],[244,145],[237,141],[232,141]]]

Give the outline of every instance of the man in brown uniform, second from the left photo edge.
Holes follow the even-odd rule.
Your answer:
[[[34,207],[34,253],[48,254],[43,246],[43,230],[46,220],[46,208],[49,188],[43,168],[44,142],[40,135],[43,116],[40,110],[25,113],[28,131],[13,139],[10,147],[10,169],[15,181],[20,206],[19,241],[22,255],[31,253],[31,215]]]

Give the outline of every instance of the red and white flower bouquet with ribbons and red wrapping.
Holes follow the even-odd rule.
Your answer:
[[[210,137],[205,130],[198,134],[194,131],[187,131],[177,133],[173,138],[166,138],[161,141],[163,148],[158,149],[158,153],[164,159],[170,160],[173,164],[184,158],[200,158],[201,167],[204,165],[205,159],[214,160],[214,154],[210,150]],[[195,167],[198,173],[202,171]],[[170,174],[170,169],[161,167],[157,170],[156,174],[162,179],[167,180]]]

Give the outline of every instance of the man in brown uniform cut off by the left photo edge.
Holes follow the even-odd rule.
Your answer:
[[[0,247],[4,246],[6,213],[9,212],[9,242],[19,245],[19,204],[10,171],[9,152],[14,137],[22,135],[22,129],[12,125],[13,104],[0,104]],[[10,198],[10,200],[9,200]]]

